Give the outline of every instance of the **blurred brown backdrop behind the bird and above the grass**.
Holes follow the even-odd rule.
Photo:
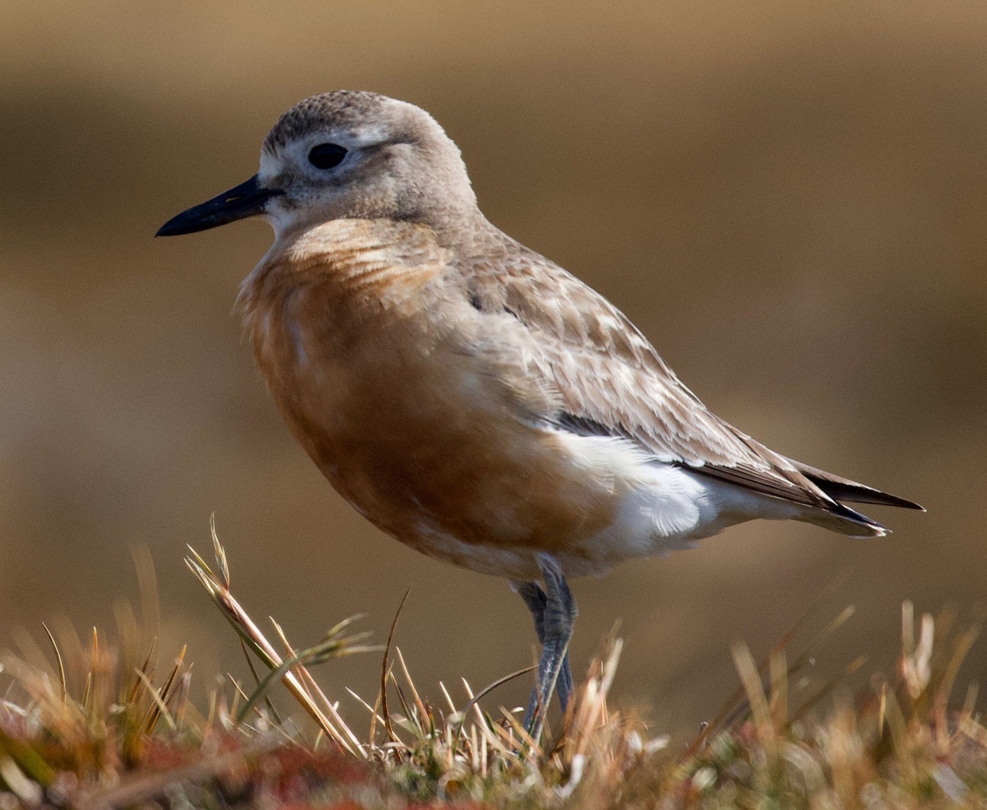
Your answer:
[[[0,11],[3,640],[59,613],[112,625],[145,544],[169,649],[189,641],[206,683],[243,676],[182,562],[215,511],[239,596],[299,643],[356,612],[380,640],[413,585],[399,643],[423,691],[530,662],[502,581],[379,534],[280,423],[230,317],[266,226],[151,238],[253,174],[282,110],[341,87],[430,110],[493,222],[624,309],[722,416],[929,507],[871,509],[887,540],[752,524],[578,581],[577,671],[623,618],[617,694],[685,735],[733,690],[731,639],[763,653],[834,582],[815,625],[859,610],[833,666],[888,666],[904,598],[980,599],[981,0],[22,1]],[[377,666],[322,678],[372,697]]]

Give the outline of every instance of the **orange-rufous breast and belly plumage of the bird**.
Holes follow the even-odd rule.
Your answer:
[[[397,539],[565,551],[609,525],[612,493],[524,418],[544,395],[475,349],[489,325],[451,258],[427,227],[384,220],[275,245],[239,300],[258,364],[326,478]]]

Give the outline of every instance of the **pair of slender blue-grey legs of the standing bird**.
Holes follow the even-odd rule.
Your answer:
[[[572,693],[572,673],[569,668],[569,639],[577,614],[575,600],[569,591],[562,567],[549,554],[536,556],[538,568],[545,579],[544,589],[537,582],[515,583],[514,587],[535,619],[535,632],[542,642],[542,656],[538,662],[538,678],[535,691],[528,701],[524,726],[537,740],[544,726],[544,711],[552,700],[558,685],[559,700],[563,710],[569,704]]]

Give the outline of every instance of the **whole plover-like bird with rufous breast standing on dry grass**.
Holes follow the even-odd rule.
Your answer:
[[[542,647],[536,735],[572,694],[570,578],[759,518],[863,538],[887,529],[848,503],[922,509],[715,415],[620,310],[484,216],[415,105],[299,102],[254,177],[157,235],[253,216],[274,241],[236,311],[281,416],[377,528],[521,596]]]

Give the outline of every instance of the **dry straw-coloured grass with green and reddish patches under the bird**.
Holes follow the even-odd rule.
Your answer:
[[[273,624],[272,642],[231,593],[226,555],[214,533],[213,541],[214,566],[194,551],[188,563],[236,629],[253,683],[230,676],[229,687],[214,690],[199,709],[189,698],[185,650],[159,676],[149,628],[157,616],[153,573],[142,566],[144,626],[121,608],[113,648],[95,630],[84,644],[62,628],[47,632],[47,654],[26,642],[24,654],[5,656],[0,810],[42,804],[987,805],[987,728],[974,713],[976,689],[968,690],[960,708],[950,708],[959,665],[978,626],[956,629],[949,614],[938,621],[922,617],[916,637],[906,603],[897,672],[873,675],[870,688],[855,697],[837,677],[796,700],[810,657],[852,611],[797,655],[789,649],[791,634],[760,665],[736,644],[737,694],[688,748],[674,752],[667,738],[648,733],[640,717],[608,705],[622,650],[613,637],[590,664],[557,736],[533,740],[516,711],[493,709],[493,689],[526,671],[478,694],[464,681],[458,701],[439,685],[441,705],[434,705],[421,697],[400,650],[392,647],[394,627],[383,648],[365,646],[360,634],[350,633],[351,621],[301,651]],[[383,652],[383,663],[373,704],[347,697],[370,716],[369,733],[361,736],[309,668],[374,649]],[[855,661],[847,672],[862,666]],[[268,693],[278,682],[308,721],[296,725],[277,715]]]

